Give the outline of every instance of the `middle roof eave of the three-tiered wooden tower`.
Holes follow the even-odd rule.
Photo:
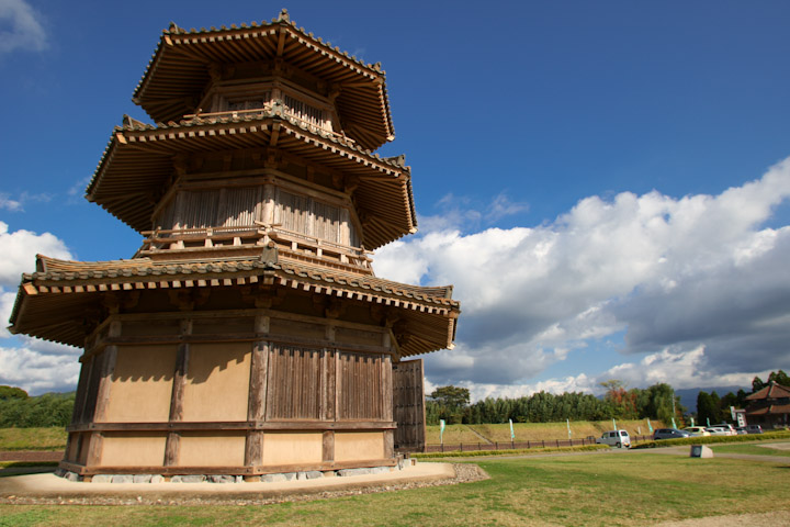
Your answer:
[[[365,248],[374,250],[416,232],[408,167],[280,116],[116,128],[87,198],[132,228],[148,231],[157,197],[172,176],[173,156],[269,147],[273,130],[278,130],[278,149],[359,178],[354,198],[364,217]]]

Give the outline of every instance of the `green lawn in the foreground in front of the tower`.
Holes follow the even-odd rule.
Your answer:
[[[475,462],[489,480],[268,506],[0,505],[0,525],[641,526],[790,508],[790,462],[655,450]]]

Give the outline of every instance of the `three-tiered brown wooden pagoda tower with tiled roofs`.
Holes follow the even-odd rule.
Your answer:
[[[84,348],[61,470],[263,474],[392,467],[425,444],[421,360],[452,287],[379,279],[416,232],[380,65],[297,29],[162,32],[87,189],[131,259],[38,256],[13,333]]]

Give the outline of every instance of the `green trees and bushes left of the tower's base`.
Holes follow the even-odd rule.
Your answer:
[[[75,392],[27,395],[21,388],[0,386],[0,428],[68,426]]]

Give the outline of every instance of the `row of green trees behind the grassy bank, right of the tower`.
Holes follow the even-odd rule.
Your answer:
[[[439,424],[486,423],[552,423],[571,421],[640,419],[653,418],[670,423],[673,416],[680,422],[684,407],[675,390],[666,383],[654,384],[645,390],[627,390],[622,382],[611,380],[602,383],[603,397],[589,393],[566,392],[553,394],[538,392],[518,399],[487,397],[470,404],[465,388],[438,388],[426,399],[426,422]]]

